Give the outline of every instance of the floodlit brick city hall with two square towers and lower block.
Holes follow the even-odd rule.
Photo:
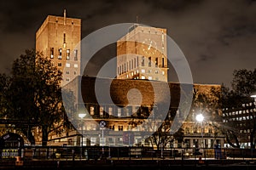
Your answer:
[[[161,127],[171,139],[183,129],[182,141],[174,139],[165,148],[223,146],[224,136],[215,126],[222,122],[220,85],[168,82],[166,29],[135,24],[127,30],[116,44],[117,78],[113,79],[83,76],[80,40],[81,20],[67,17],[66,11],[63,16],[47,16],[36,33],[36,49],[60,71],[65,68],[61,86],[73,94],[67,99],[72,105],[65,109],[75,128],[51,133],[49,145],[155,148],[150,136]],[[187,96],[190,104],[181,99],[186,87],[192,87]],[[198,114],[204,122],[196,121]],[[38,127],[37,144],[40,132]]]

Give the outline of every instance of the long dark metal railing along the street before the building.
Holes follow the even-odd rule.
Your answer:
[[[255,149],[172,148],[154,150],[152,147],[107,146],[26,146],[0,149],[0,160],[99,160],[99,159],[253,159]]]

